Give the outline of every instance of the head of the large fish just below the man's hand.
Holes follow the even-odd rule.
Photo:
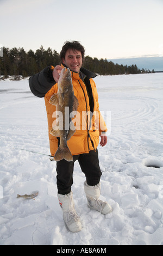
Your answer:
[[[66,87],[72,85],[70,69],[63,68],[60,72],[58,87]]]

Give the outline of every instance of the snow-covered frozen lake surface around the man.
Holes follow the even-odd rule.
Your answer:
[[[101,199],[113,211],[104,216],[87,208],[76,162],[78,233],[62,219],[55,161],[21,150],[50,154],[44,99],[30,92],[27,79],[0,82],[0,245],[163,245],[163,73],[95,82],[101,111],[111,113],[108,144],[98,152]],[[16,198],[36,190],[35,199]]]

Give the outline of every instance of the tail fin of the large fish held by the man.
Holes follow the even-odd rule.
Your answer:
[[[55,161],[60,161],[62,159],[67,160],[68,162],[73,161],[71,151],[68,147],[61,148],[59,147],[54,155]]]

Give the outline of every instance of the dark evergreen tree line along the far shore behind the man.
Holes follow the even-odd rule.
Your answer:
[[[24,48],[3,47],[3,57],[0,57],[0,75],[3,78],[8,76],[28,77],[41,71],[49,65],[59,65],[60,58],[57,51],[52,51],[49,47],[47,50],[41,46],[35,52]],[[108,62],[107,59],[85,57],[84,68],[91,70],[99,75],[122,75],[122,74],[141,74],[149,73],[150,70],[137,68],[136,65],[119,65]],[[154,70],[152,70],[154,72]]]

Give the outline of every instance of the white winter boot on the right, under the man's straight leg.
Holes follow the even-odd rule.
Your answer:
[[[102,214],[110,214],[112,211],[111,205],[98,199],[100,196],[100,183],[95,186],[89,186],[85,181],[84,191],[87,198],[87,205],[90,209],[99,211]]]

